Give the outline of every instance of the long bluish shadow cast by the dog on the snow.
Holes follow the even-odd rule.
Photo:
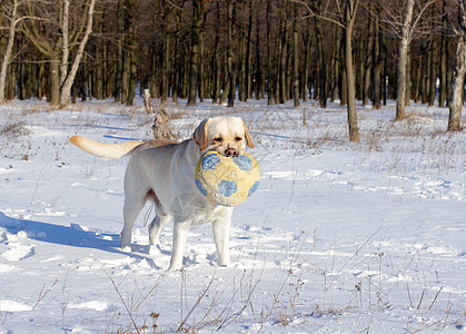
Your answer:
[[[37,220],[11,218],[0,212],[0,227],[6,228],[11,234],[26,233],[29,239],[50,243],[61,246],[93,248],[103,252],[131,256],[136,259],[145,259],[155,269],[161,269],[152,258],[136,253],[125,253],[120,249],[120,236],[118,234],[98,233],[93,230],[85,230],[78,224],[70,226],[54,225]],[[0,242],[2,237],[0,235]],[[149,246],[135,245],[133,250],[137,253],[149,253]],[[162,252],[168,255],[167,252]],[[166,254],[167,253],[167,254]]]

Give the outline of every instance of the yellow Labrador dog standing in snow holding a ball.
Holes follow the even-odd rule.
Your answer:
[[[156,206],[149,226],[149,240],[160,243],[160,230],[171,219],[173,244],[169,271],[180,269],[191,225],[211,222],[219,264],[230,263],[229,233],[231,207],[219,206],[201,196],[195,185],[195,170],[200,156],[208,150],[235,158],[254,148],[245,122],[238,117],[219,116],[202,120],[192,138],[180,144],[159,146],[156,141],[101,144],[79,136],[72,144],[96,156],[118,159],[131,155],[125,174],[125,227],[121,249],[131,252],[131,229],[147,200]]]

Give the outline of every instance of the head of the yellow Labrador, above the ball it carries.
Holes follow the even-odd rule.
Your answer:
[[[245,154],[246,146],[254,148],[245,122],[232,116],[206,118],[197,127],[192,138],[201,154],[216,150],[222,156],[235,158]]]

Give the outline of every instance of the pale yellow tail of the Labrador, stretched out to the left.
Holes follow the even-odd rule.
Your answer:
[[[69,141],[91,155],[106,159],[119,159],[131,154],[136,147],[143,144],[143,141],[137,140],[122,144],[103,144],[80,136],[72,136]]]

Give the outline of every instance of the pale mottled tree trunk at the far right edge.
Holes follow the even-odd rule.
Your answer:
[[[452,96],[448,105],[448,131],[462,130],[463,94],[466,75],[466,0],[457,0],[459,6],[459,28],[454,28],[458,36],[455,70],[452,79]]]

